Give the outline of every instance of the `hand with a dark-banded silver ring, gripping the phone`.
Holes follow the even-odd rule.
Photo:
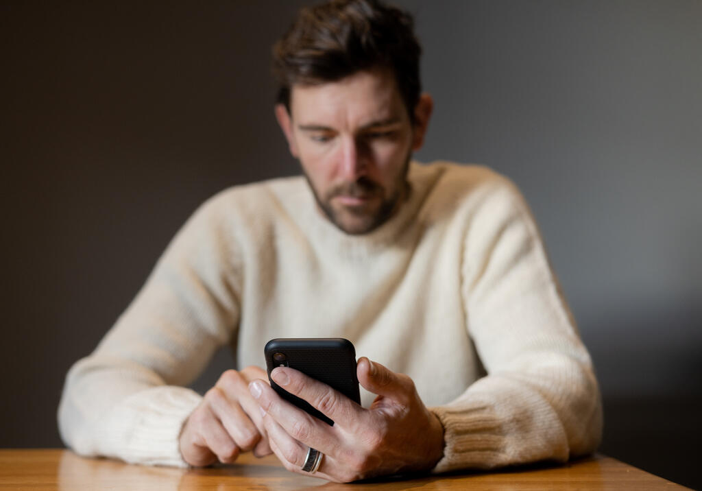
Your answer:
[[[412,379],[368,358],[359,359],[357,375],[364,388],[378,395],[369,409],[298,370],[271,372],[279,386],[310,402],[333,426],[283,400],[265,382],[249,384],[265,412],[270,447],[286,469],[310,475],[301,470],[309,447],[324,454],[314,476],[342,483],[435,466],[444,452],[444,429]]]

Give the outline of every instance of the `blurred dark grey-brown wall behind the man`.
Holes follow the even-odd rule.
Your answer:
[[[602,452],[702,487],[702,2],[398,3],[436,102],[416,157],[519,185],[595,360]],[[62,445],[67,369],[198,204],[298,173],[269,60],[300,4],[0,5],[1,447]]]

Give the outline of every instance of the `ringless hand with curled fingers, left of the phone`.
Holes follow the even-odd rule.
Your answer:
[[[249,450],[256,457],[272,454],[260,406],[249,392],[254,379],[268,376],[259,367],[227,370],[207,391],[180,432],[180,454],[188,464],[208,466],[217,460],[226,464]]]

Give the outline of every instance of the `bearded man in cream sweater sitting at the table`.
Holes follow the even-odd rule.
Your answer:
[[[595,449],[597,381],[527,204],[484,167],[411,162],[432,112],[419,53],[409,15],[376,1],[301,11],[274,50],[275,114],[306,179],[225,190],[187,221],[70,370],[68,445],[193,466],[273,452],[336,481]],[[277,384],[335,424],[279,398],[260,368],[275,337],[352,340],[363,407],[286,368]],[[248,367],[184,388],[225,343]]]

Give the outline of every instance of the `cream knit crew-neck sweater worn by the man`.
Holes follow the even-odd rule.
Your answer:
[[[185,466],[185,388],[219,346],[264,367],[275,337],[345,337],[409,374],[445,428],[436,472],[565,461],[600,441],[588,352],[527,204],[484,166],[412,163],[398,213],[345,235],[301,177],[220,192],[69,371],[60,433],[79,454]],[[362,391],[364,405],[373,395]]]

